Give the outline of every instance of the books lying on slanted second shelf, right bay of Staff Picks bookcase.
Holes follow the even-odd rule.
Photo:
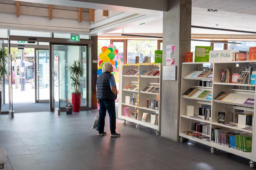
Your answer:
[[[242,95],[237,93],[221,92],[214,100],[221,100],[225,102],[254,106],[253,95]]]

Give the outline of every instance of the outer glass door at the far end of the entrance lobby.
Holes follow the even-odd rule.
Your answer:
[[[50,55],[48,49],[35,49],[35,101],[47,103],[50,100]]]

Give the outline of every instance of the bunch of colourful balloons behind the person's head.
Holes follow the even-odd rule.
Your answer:
[[[105,62],[111,62],[113,67],[112,74],[116,74],[119,71],[119,66],[121,61],[119,60],[118,50],[115,45],[110,44],[108,46],[103,46],[101,48],[102,53],[100,53],[99,58],[99,66],[97,70],[97,74],[102,74],[102,66]]]

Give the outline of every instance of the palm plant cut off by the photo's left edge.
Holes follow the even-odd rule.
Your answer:
[[[3,78],[8,76],[8,70],[5,64],[8,62],[8,49],[0,48],[0,85],[3,87]],[[2,108],[2,89],[0,87],[0,111]]]

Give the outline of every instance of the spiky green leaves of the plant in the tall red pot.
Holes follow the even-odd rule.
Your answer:
[[[84,76],[84,66],[80,60],[74,60],[74,63],[68,66],[70,73],[71,88],[74,90],[73,93],[81,93],[82,91],[82,79]]]

